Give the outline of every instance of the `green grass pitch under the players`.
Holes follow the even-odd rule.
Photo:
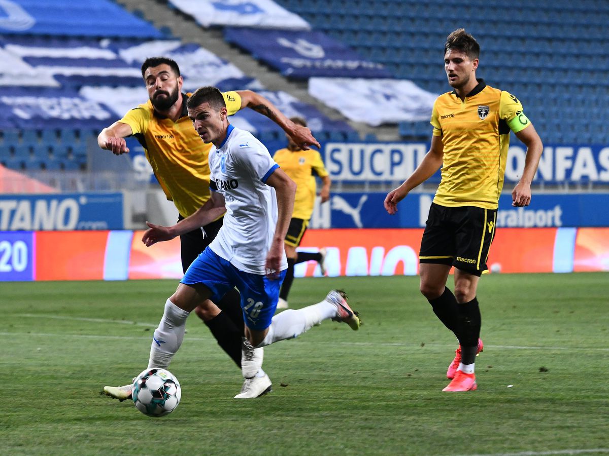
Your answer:
[[[0,454],[609,452],[607,284],[483,277],[479,389],[449,394],[456,342],[417,277],[298,279],[292,307],[342,287],[361,330],[324,322],[266,348],[273,392],[238,401],[239,371],[192,316],[170,367],[180,406],[154,419],[99,392],[146,367],[176,281],[0,283]]]

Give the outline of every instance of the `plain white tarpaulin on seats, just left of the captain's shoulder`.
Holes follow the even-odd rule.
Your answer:
[[[438,95],[397,79],[310,78],[309,94],[355,122],[429,120]]]

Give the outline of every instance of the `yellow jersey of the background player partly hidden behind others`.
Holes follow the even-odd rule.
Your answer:
[[[290,179],[296,182],[292,218],[308,220],[313,213],[315,195],[317,194],[315,174],[320,178],[328,176],[322,156],[316,150],[291,151],[284,148],[276,151],[273,159]]]

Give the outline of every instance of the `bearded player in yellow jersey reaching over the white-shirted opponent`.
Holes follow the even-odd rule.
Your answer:
[[[209,199],[208,153],[211,143],[203,143],[192,128],[186,109],[190,94],[181,92],[183,79],[178,64],[171,58],[152,57],[144,61],[141,69],[149,100],[104,128],[97,137],[97,143],[100,148],[120,155],[129,151],[124,138],[135,136],[143,145],[146,158],[167,199],[174,202],[179,218],[183,219]],[[280,125],[302,148],[308,145],[319,147],[308,128],[291,122],[261,95],[252,91],[225,92],[223,95],[229,115],[245,107],[252,108]],[[180,236],[183,271],[211,243],[221,226],[222,216],[204,226],[204,231],[196,229]],[[239,367],[244,331],[240,301],[239,293],[234,290],[228,292],[217,306],[196,309],[220,347]],[[268,386],[258,385],[262,390]]]

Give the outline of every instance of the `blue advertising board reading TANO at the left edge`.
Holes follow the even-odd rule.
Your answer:
[[[124,229],[122,193],[0,195],[0,231]]]

